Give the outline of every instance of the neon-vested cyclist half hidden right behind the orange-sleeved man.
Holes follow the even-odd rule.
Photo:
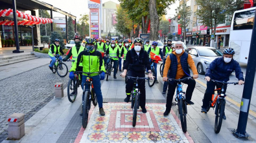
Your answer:
[[[165,68],[165,60],[166,60],[166,55],[169,55],[170,53],[172,53],[172,40],[168,39],[167,40],[167,44],[165,44],[165,46],[163,46],[163,68]],[[163,71],[163,68],[161,69]],[[165,94],[167,91],[167,86],[168,86],[168,82],[164,82],[163,83],[163,92],[162,94]]]

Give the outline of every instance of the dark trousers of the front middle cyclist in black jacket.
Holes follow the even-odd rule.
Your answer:
[[[128,76],[130,77],[145,77],[145,72],[134,72],[132,70],[128,71]],[[139,90],[141,91],[139,97],[139,106],[141,108],[145,108],[146,105],[146,88],[145,88],[145,80],[138,80]],[[134,88],[134,81],[132,79],[128,79],[126,83],[126,93],[132,93]]]

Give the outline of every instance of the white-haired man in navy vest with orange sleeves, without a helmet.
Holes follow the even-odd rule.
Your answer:
[[[187,52],[184,52],[183,45],[181,41],[178,41],[174,47],[175,51],[172,52],[165,61],[165,68],[163,70],[163,81],[167,82],[168,79],[184,79],[190,77],[189,66],[193,72],[193,79],[188,79],[183,81],[183,83],[188,84],[186,91],[186,102],[187,104],[194,104],[191,101],[192,93],[194,87],[196,86],[196,81],[194,79],[198,78],[198,72],[194,61]],[[169,89],[167,94],[166,110],[163,113],[164,116],[168,116],[170,113],[170,108],[172,107],[172,98],[176,90],[177,82],[169,81]]]

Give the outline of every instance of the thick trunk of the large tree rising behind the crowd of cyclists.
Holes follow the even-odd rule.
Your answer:
[[[156,10],[156,0],[149,1],[149,13],[150,13],[150,40],[157,41],[159,30],[159,16]]]

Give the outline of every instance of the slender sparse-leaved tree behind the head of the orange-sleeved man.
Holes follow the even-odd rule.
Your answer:
[[[191,9],[190,9],[190,6],[187,6],[187,2],[185,0],[183,0],[182,5],[180,5],[176,9],[176,14],[177,14],[176,17],[180,17],[180,20],[178,20],[178,23],[183,29],[183,39],[184,39],[184,43],[186,43],[186,28],[190,22],[189,17],[191,15]]]

